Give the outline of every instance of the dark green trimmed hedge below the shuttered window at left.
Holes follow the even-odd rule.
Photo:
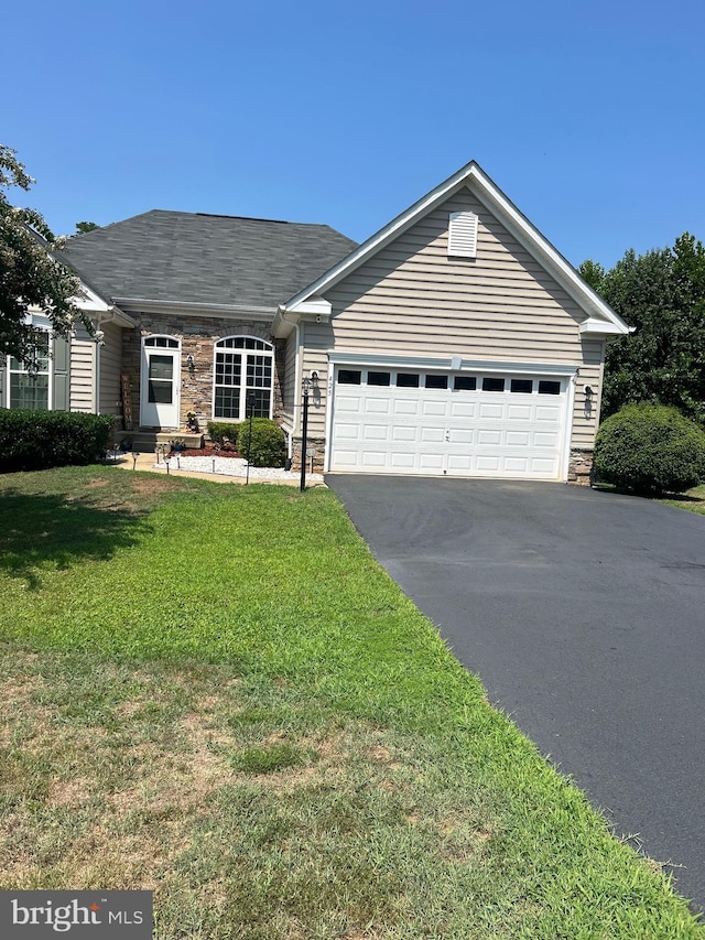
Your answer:
[[[90,464],[112,437],[107,414],[0,410],[0,473]]]

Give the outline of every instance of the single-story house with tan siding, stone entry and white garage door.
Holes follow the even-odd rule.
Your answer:
[[[241,421],[326,472],[585,480],[605,347],[628,326],[468,163],[362,245],[325,225],[152,210],[68,240],[96,336],[54,341],[3,407],[118,428]],[[120,422],[123,422],[120,424]],[[118,436],[120,431],[118,431]]]

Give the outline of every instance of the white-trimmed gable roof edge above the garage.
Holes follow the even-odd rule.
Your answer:
[[[463,187],[470,190],[487,206],[492,215],[512,233],[518,241],[542,264],[544,270],[552,274],[585,312],[586,320],[581,326],[582,332],[598,335],[629,333],[629,326],[623,320],[585,283],[575,268],[529,222],[475,160],[440,183],[434,190],[422,196],[401,215],[368,238],[367,241],[354,248],[346,258],[321,273],[315,281],[294,294],[285,304],[280,306],[278,320],[281,320],[281,314],[284,311],[301,313],[312,309],[313,304],[321,302],[327,290],[347,278],[356,268],[372,258]]]

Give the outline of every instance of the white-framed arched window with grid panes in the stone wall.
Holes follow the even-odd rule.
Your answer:
[[[226,336],[215,344],[213,417],[241,421],[247,399],[254,398],[252,414],[271,418],[274,352],[271,343],[254,336]]]

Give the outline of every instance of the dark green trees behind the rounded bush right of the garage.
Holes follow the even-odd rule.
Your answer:
[[[608,346],[603,418],[623,404],[660,402],[705,421],[705,249],[685,233],[673,248],[632,249],[600,277],[584,261],[587,282],[633,334]]]

